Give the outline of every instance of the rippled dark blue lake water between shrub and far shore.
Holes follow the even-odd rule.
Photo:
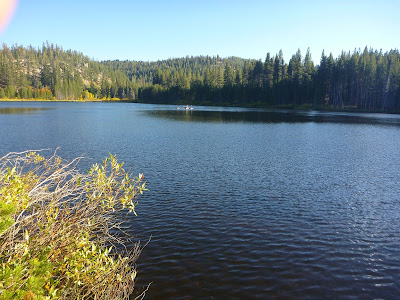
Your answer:
[[[0,102],[0,156],[117,154],[147,299],[400,297],[400,117]]]

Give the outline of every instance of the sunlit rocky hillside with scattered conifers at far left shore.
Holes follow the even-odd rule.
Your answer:
[[[0,98],[122,99],[137,89],[121,71],[53,44],[0,51]]]

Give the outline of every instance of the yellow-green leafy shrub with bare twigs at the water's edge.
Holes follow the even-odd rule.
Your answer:
[[[145,190],[110,155],[88,174],[35,152],[0,159],[0,299],[127,299],[139,244],[124,246],[116,211]],[[125,248],[121,248],[125,247]],[[124,255],[118,249],[124,249]]]

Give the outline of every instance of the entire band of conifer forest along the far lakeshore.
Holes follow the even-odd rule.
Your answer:
[[[400,53],[298,50],[265,61],[198,56],[103,61],[53,44],[0,50],[0,98],[127,99],[149,103],[400,111]]]

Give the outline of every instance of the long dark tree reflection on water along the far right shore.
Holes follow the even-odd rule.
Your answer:
[[[150,116],[187,122],[353,123],[400,126],[398,115],[288,110],[149,110]]]

